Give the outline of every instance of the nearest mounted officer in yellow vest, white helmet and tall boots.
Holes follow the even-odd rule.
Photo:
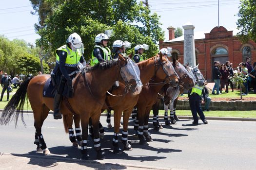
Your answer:
[[[51,76],[58,86],[54,97],[54,119],[61,119],[60,102],[62,95],[69,98],[73,95],[72,79],[79,72],[79,62],[86,66],[82,55],[83,44],[81,37],[77,33],[69,35],[66,45],[59,47],[56,51],[56,66]]]

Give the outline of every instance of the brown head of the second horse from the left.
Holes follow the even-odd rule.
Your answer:
[[[155,66],[158,66],[157,70],[155,71],[157,77],[163,79],[171,86],[177,86],[178,75],[172,63],[167,58],[163,57],[161,52],[159,53],[159,57],[155,57]]]

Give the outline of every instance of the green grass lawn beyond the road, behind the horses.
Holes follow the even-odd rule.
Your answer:
[[[0,86],[0,92],[2,91],[2,88]],[[13,88],[13,92],[10,94],[10,98],[14,95],[14,93],[17,91],[17,89]],[[252,92],[250,92],[252,93]],[[229,93],[223,93],[222,95],[212,95],[210,94],[211,98],[236,98],[239,97],[239,91],[229,92]],[[183,97],[187,97],[187,94],[184,94]],[[243,98],[246,97],[256,97],[256,94],[248,94],[247,96],[243,96]],[[5,92],[5,95],[3,96],[3,101],[0,102],[0,109],[3,109],[5,105],[7,104],[7,94]],[[32,110],[30,103],[28,101],[24,104],[24,110]],[[192,116],[190,110],[177,110],[176,111],[178,116]],[[153,112],[150,113],[153,115]],[[164,115],[164,110],[159,110],[159,115]],[[168,113],[170,115],[170,112]],[[256,118],[256,111],[255,110],[249,110],[249,111],[210,111],[210,112],[204,112],[204,115],[206,117],[241,117],[241,118]]]

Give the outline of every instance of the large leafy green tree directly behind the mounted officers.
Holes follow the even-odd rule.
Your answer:
[[[156,13],[151,14],[150,9],[142,3],[137,3],[136,0],[45,1],[51,6],[52,12],[48,13],[43,24],[38,27],[41,38],[36,43],[44,49],[47,49],[51,43],[54,51],[65,43],[69,34],[76,32],[82,38],[84,57],[88,60],[91,58],[95,36],[105,30],[113,29],[115,35],[110,39],[110,46],[113,41],[120,39],[131,41],[133,47],[138,43],[152,45],[148,51],[150,56],[158,52],[154,43],[159,38],[163,38],[159,17]],[[32,5],[36,4],[32,3]],[[39,10],[35,10],[35,14],[39,15]]]

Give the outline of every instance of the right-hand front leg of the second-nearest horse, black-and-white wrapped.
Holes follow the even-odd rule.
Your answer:
[[[122,131],[122,143],[125,151],[132,151],[132,146],[128,143],[128,122],[131,115],[131,109],[123,112],[123,131]]]

